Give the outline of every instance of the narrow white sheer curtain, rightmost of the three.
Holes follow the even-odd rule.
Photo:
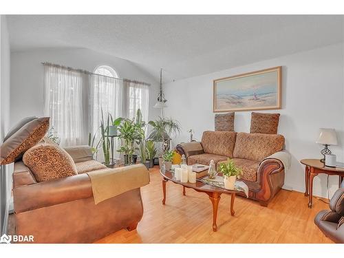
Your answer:
[[[126,111],[127,117],[133,119],[136,117],[136,111],[141,109],[142,119],[148,122],[149,109],[149,86],[125,80],[126,88]]]

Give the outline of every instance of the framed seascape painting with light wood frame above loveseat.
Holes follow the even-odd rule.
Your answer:
[[[282,67],[214,80],[213,111],[281,109]]]

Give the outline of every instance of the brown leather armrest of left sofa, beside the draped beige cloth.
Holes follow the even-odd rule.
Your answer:
[[[14,211],[22,213],[92,196],[89,176],[87,174],[72,175],[14,188]]]

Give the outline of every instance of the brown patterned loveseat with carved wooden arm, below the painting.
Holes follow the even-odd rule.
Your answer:
[[[218,167],[228,158],[233,159],[243,172],[241,181],[248,185],[248,197],[268,206],[284,184],[283,163],[270,157],[282,151],[283,145],[281,135],[204,131],[201,142],[178,144],[176,149],[186,156],[189,165],[208,165],[214,160]]]

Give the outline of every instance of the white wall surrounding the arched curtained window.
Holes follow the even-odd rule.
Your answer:
[[[158,83],[134,63],[87,49],[40,49],[11,53],[11,125],[25,116],[43,116],[44,70],[41,62],[45,61],[89,72],[98,65],[110,65],[122,78],[151,83],[149,119],[159,114],[152,108],[158,95]]]

